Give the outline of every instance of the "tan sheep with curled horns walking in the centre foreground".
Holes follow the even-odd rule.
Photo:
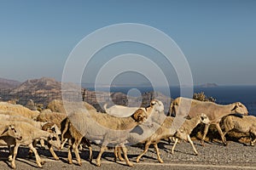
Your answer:
[[[118,144],[124,152],[126,164],[133,166],[127,157],[127,149],[124,142],[129,131],[139,123],[145,122],[147,117],[147,113],[141,109],[129,117],[115,117],[96,111],[82,110],[73,112],[73,114],[68,116],[68,120],[72,122],[73,127],[76,127],[85,138],[102,141],[101,150],[96,158],[96,166],[101,166],[101,156],[108,144]],[[69,124],[65,124],[62,135],[66,133]],[[73,150],[79,165],[81,165],[77,144],[73,145]],[[71,150],[68,151],[71,153]]]

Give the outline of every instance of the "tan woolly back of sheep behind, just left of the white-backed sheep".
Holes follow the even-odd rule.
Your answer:
[[[77,105],[77,103],[75,102],[67,102],[66,104],[67,104],[65,105],[66,107],[68,105],[71,105],[71,106]],[[87,102],[83,102],[83,105],[87,110],[96,111],[96,108],[88,104]],[[54,112],[66,113],[66,109],[64,108],[64,105],[63,105],[63,100],[53,99],[51,102],[49,102],[49,104],[47,105],[47,108]]]

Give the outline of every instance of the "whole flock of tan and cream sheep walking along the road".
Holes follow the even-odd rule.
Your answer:
[[[251,145],[256,141],[256,117],[247,116],[247,108],[240,102],[218,105],[180,97],[172,101],[167,116],[163,103],[158,99],[150,101],[147,108],[122,105],[107,108],[107,105],[104,105],[106,113],[96,111],[92,105],[85,102],[82,102],[83,107],[67,113],[67,108],[77,108],[72,102],[67,103],[64,102],[64,107],[63,101],[53,100],[48,109],[38,112],[22,105],[0,102],[0,145],[8,146],[8,159],[12,168],[15,168],[15,157],[20,145],[28,146],[30,154],[33,152],[36,158],[38,167],[42,167],[43,161],[36,149],[38,141],[42,146],[44,141],[47,142],[49,152],[55,160],[59,160],[59,157],[55,154],[53,146],[61,150],[68,141],[67,160],[70,164],[73,163],[73,150],[79,165],[81,144],[89,148],[89,159],[92,161],[92,142],[101,144],[96,166],[101,166],[102,153],[109,146],[113,147],[115,161],[119,159],[125,161],[128,166],[133,166],[128,159],[126,146],[137,143],[144,144],[143,153],[137,156],[137,162],[147,152],[149,145],[154,144],[157,159],[162,163],[158,148],[161,139],[174,142],[172,154],[178,141],[185,140],[192,145],[195,155],[198,155],[189,134],[199,123],[205,124],[202,145],[211,124],[218,129],[224,145],[227,144],[224,136],[232,129],[250,133]],[[219,124],[221,121],[224,125],[222,128]]]

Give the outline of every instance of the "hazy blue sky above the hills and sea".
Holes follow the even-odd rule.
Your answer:
[[[119,23],[154,26],[172,37],[189,61],[195,84],[256,84],[253,76],[256,72],[256,1],[253,0],[1,0],[0,77],[21,82],[39,77],[61,81],[67,57],[76,44],[92,31]],[[129,43],[115,48],[125,45],[129,48],[121,53],[137,51],[137,47]],[[109,55],[115,53],[114,49],[106,50],[91,61],[88,71],[84,71],[84,75],[90,76],[83,82],[93,82],[100,69],[96,67],[101,67],[111,58]],[[158,60],[156,52],[149,53],[141,47],[138,53],[155,57],[168,81],[177,83],[175,71],[167,68],[165,60]],[[104,56],[109,58],[102,59]],[[131,77],[134,82],[139,79],[147,82],[144,77]],[[118,78],[116,81],[119,82]]]

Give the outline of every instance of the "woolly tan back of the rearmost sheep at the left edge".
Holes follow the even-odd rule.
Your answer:
[[[12,116],[25,116],[35,119],[39,115],[39,111],[31,111],[23,105],[12,105],[7,102],[0,102],[0,114]]]

